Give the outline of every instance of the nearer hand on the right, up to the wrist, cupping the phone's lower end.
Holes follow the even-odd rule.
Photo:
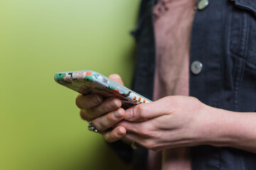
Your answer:
[[[193,97],[168,96],[127,109],[117,125],[127,130],[126,140],[152,150],[203,145],[213,117]]]

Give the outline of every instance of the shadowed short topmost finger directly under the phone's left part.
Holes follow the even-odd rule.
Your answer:
[[[102,103],[102,96],[97,94],[88,94],[83,96],[82,94],[79,94],[75,100],[75,103],[78,106],[78,108],[81,109],[93,108]]]

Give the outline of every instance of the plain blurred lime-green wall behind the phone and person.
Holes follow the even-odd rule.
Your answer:
[[[138,0],[0,0],[0,169],[129,169],[55,72],[132,79]]]

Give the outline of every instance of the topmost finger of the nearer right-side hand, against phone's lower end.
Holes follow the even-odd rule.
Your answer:
[[[171,113],[171,111],[168,110],[169,107],[167,107],[163,102],[164,101],[159,100],[128,108],[124,119],[133,122],[140,122]]]

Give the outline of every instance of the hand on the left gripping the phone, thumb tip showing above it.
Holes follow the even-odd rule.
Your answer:
[[[124,84],[118,74],[111,74],[109,78],[119,84]],[[125,117],[125,111],[121,108],[122,101],[119,98],[110,97],[103,100],[102,96],[97,94],[85,96],[79,94],[76,98],[76,105],[81,109],[82,119],[92,121],[107,142],[115,142],[126,135],[124,127],[114,127]]]

